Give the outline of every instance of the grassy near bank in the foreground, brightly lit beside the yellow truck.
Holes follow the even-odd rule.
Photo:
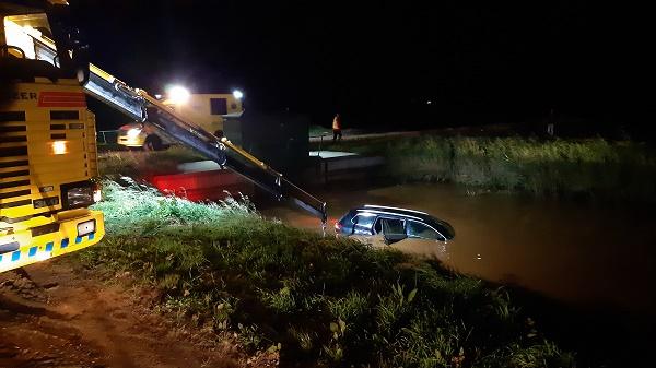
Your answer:
[[[569,367],[504,289],[394,251],[107,181],[85,264],[130,271],[181,323],[301,366]]]

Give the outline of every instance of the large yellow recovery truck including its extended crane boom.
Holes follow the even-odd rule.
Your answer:
[[[86,96],[159,129],[326,224],[326,203],[197,117],[89,62],[66,0],[0,1],[0,272],[96,244],[105,235],[94,115]],[[235,108],[237,109],[237,108]],[[238,106],[241,109],[241,106]]]

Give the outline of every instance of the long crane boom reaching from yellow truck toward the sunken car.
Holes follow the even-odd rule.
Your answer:
[[[30,36],[34,39],[36,58],[55,64],[57,61],[55,43],[40,34],[33,33]],[[216,138],[192,121],[176,114],[145,91],[128,86],[125,82],[93,63],[89,64],[89,76],[83,87],[84,92],[92,97],[137,121],[153,123],[184,145],[244,176],[258,187],[272,193],[278,200],[291,199],[298,206],[319,217],[325,226],[327,219],[326,202],[298,188],[284,178],[281,173],[227,139]]]

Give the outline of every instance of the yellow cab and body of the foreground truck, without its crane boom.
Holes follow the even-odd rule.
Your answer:
[[[99,191],[95,120],[78,80],[83,52],[61,41],[57,66],[37,60],[30,34],[63,37],[32,3],[0,2],[0,272],[105,234],[103,214],[89,209]]]

